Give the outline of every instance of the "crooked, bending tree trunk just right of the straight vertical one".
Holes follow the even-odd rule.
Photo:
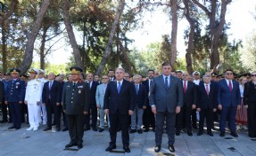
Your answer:
[[[183,3],[185,5],[185,16],[186,20],[189,23],[190,26],[190,31],[188,35],[188,42],[187,42],[187,49],[186,49],[186,70],[188,74],[193,73],[193,66],[192,66],[192,52],[194,51],[194,24],[195,21],[194,19],[191,18],[190,16],[190,9],[189,9],[189,2],[188,0],[183,0]]]

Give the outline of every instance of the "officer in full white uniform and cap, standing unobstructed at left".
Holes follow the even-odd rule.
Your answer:
[[[25,101],[28,105],[29,112],[29,124],[30,127],[27,130],[37,130],[40,122],[40,100],[42,96],[42,83],[36,79],[37,69],[29,69],[30,81],[27,84]]]

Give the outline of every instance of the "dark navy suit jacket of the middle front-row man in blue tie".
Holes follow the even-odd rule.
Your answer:
[[[117,89],[117,82],[109,82],[105,96],[104,109],[109,109],[109,113],[117,111],[121,114],[128,114],[128,110],[133,111],[135,107],[135,90],[133,84],[123,79],[120,94]]]

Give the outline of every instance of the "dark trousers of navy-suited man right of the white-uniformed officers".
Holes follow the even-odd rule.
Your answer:
[[[60,114],[60,109],[59,106],[54,104],[51,99],[48,99],[46,104],[46,113],[47,113],[47,126],[49,128],[52,127],[52,114],[54,113],[54,122],[57,127],[61,126],[61,114]]]

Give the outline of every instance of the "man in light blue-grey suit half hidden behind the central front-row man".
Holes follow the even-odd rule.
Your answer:
[[[99,109],[99,115],[100,115],[100,126],[99,126],[99,132],[103,132],[104,130],[104,117],[105,117],[105,113],[104,113],[104,109],[103,109],[103,105],[104,105],[104,96],[105,96],[105,91],[109,82],[109,76],[107,75],[103,75],[102,78],[102,84],[97,86],[97,90],[96,90],[96,94],[95,94],[95,98],[96,98],[96,105],[97,108]],[[109,115],[108,115],[108,126],[110,128],[110,121],[109,121]]]

